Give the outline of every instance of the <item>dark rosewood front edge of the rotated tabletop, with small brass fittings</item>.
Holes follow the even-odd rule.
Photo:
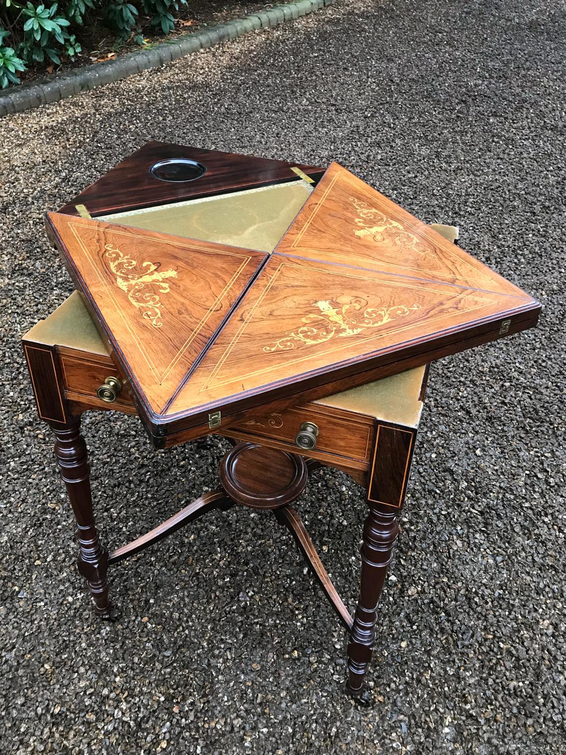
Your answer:
[[[163,448],[164,445],[174,445],[165,441],[166,436],[187,433],[191,428],[202,430],[198,434],[195,433],[195,438],[209,432],[214,433],[215,430],[207,429],[208,414],[211,411],[222,412],[223,432],[230,424],[241,421],[245,412],[252,408],[254,411],[269,413],[269,411],[278,411],[292,405],[321,399],[331,393],[377,381],[382,377],[426,365],[443,356],[456,354],[534,328],[537,325],[540,310],[540,304],[532,300],[530,306],[525,305],[518,310],[513,310],[512,313],[502,313],[480,324],[454,328],[452,331],[447,331],[447,334],[441,338],[429,336],[402,349],[392,347],[371,359],[350,359],[348,362],[334,365],[333,368],[321,368],[310,373],[303,373],[267,388],[263,386],[228,397],[221,403],[201,405],[180,417],[177,415],[177,417],[160,418],[155,414],[152,416],[145,411],[145,407],[140,407],[140,416],[152,444],[155,448]],[[512,322],[509,325],[509,331],[502,335],[499,328],[504,319],[511,319]],[[428,341],[432,341],[432,347],[429,346],[428,350],[423,349]],[[297,390],[297,383],[300,385],[300,390]],[[258,397],[260,401],[257,400]]]

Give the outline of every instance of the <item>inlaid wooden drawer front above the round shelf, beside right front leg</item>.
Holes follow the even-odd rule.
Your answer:
[[[297,434],[309,433],[309,426],[318,428],[316,451],[325,451],[347,458],[367,461],[371,452],[373,421],[363,415],[346,415],[332,408],[305,404],[285,411],[258,415],[233,426],[234,430],[258,437],[287,442],[294,448]],[[303,446],[303,450],[306,446]]]

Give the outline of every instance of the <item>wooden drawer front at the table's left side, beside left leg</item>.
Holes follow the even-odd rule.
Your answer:
[[[92,399],[94,405],[103,405],[107,408],[119,408],[121,406],[133,406],[131,397],[126,388],[118,396],[115,402],[106,403],[101,401],[97,396],[97,389],[106,380],[106,377],[118,377],[122,383],[123,377],[118,373],[114,362],[108,357],[94,354],[85,354],[82,356],[78,353],[69,353],[65,351],[60,353],[61,371],[63,381],[65,381],[65,390],[69,399],[75,394],[87,396]]]

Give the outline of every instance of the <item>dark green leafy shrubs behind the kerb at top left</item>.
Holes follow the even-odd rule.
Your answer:
[[[75,60],[82,52],[78,35],[85,20],[102,20],[116,32],[118,42],[133,39],[143,45],[142,20],[168,34],[174,29],[174,11],[187,0],[61,0],[15,2],[0,0],[0,88],[19,84],[18,73],[35,63]]]

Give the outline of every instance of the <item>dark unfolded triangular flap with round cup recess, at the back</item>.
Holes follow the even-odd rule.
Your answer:
[[[184,183],[158,180],[149,174],[149,168],[155,162],[175,157],[201,162],[206,166],[207,172],[201,178]],[[78,215],[75,205],[85,205],[94,217],[108,212],[282,183],[297,179],[297,174],[291,170],[293,167],[300,168],[315,178],[324,171],[324,168],[285,160],[153,141],[118,163],[106,175],[75,196],[69,204],[60,208],[60,212]]]

